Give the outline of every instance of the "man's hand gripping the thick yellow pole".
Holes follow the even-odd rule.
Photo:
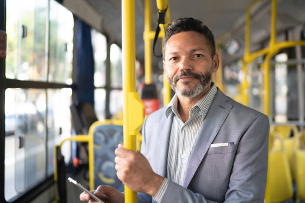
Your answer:
[[[155,196],[164,178],[152,171],[147,158],[140,152],[125,149],[122,144],[115,150],[118,178],[132,191]]]

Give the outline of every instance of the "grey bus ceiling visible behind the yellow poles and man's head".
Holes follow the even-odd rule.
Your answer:
[[[215,41],[221,39],[223,47],[232,43],[232,39],[239,43],[239,48],[244,47],[245,13],[248,5],[254,0],[168,0],[170,6],[170,18],[193,17],[205,23],[215,36]],[[271,0],[258,1],[251,9],[251,43],[258,43],[268,40],[271,24]],[[76,16],[83,19],[97,31],[102,32],[108,40],[122,45],[121,31],[121,0],[64,0],[63,5],[70,9]],[[183,9],[181,9],[183,8]],[[277,0],[277,31],[301,25],[305,22],[305,1],[304,0]],[[84,10],[86,10],[84,12]],[[157,5],[151,0],[151,26],[157,25]],[[135,0],[136,19],[136,56],[144,61],[144,40],[143,30],[145,24],[145,0]],[[156,50],[161,50],[161,40],[156,44]],[[235,43],[236,41],[233,41]],[[236,43],[235,43],[236,44]],[[252,47],[252,50],[261,47]],[[223,55],[223,61],[232,60],[230,55]],[[243,51],[235,51],[234,58],[241,58]],[[234,53],[235,53],[234,52]],[[153,57],[154,67],[162,69],[161,59]]]

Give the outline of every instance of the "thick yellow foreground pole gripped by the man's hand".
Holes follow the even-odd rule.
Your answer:
[[[136,151],[136,135],[143,123],[144,105],[136,93],[135,0],[122,0],[122,50],[124,147]],[[137,202],[137,193],[127,186],[125,202]]]

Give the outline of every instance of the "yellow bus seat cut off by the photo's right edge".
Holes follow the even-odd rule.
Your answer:
[[[297,197],[305,201],[305,150],[298,149],[296,158]]]

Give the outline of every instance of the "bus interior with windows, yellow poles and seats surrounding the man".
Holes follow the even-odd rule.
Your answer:
[[[126,69],[124,11],[135,36]],[[269,116],[265,203],[305,202],[305,0],[0,0],[1,203],[80,202],[68,177],[124,191],[114,150],[131,114],[140,150],[145,115],[174,95],[161,55],[180,17],[212,30],[217,87]]]

